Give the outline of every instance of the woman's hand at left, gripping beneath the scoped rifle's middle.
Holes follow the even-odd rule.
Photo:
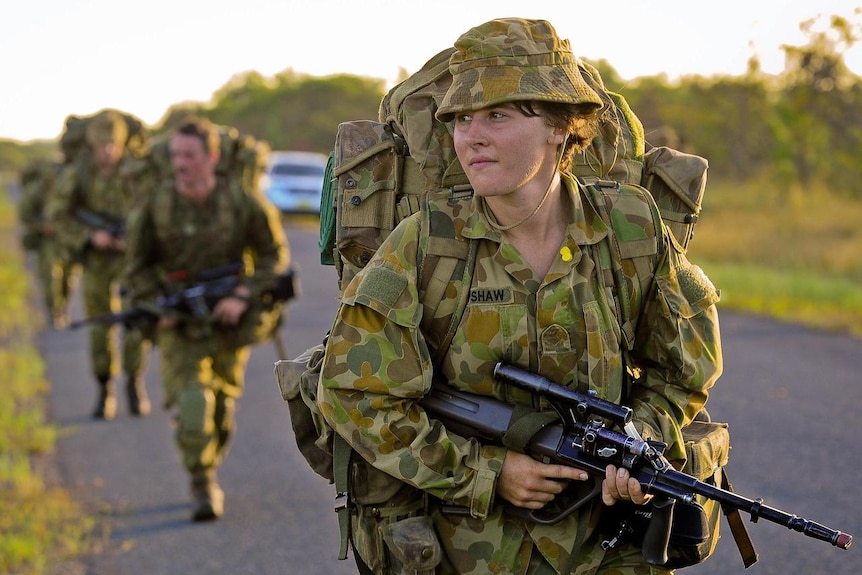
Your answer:
[[[582,469],[545,464],[509,450],[497,479],[497,494],[518,507],[541,509],[563,491],[569,481],[588,478],[589,474]]]

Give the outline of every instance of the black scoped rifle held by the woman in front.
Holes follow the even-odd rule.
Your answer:
[[[612,464],[628,469],[631,476],[640,482],[644,492],[655,495],[643,542],[643,555],[650,563],[663,565],[667,562],[674,505],[683,508],[696,506],[696,495],[717,501],[726,515],[734,510],[743,511],[750,515],[752,522],[762,518],[841,549],[848,549],[853,541],[853,536],[847,533],[769,507],[761,499],[747,499],[677,471],[664,457],[664,444],[640,438],[632,424],[632,410],[629,407],[595,395],[579,393],[541,375],[504,363],[496,365],[494,377],[545,397],[559,416],[559,420],[546,419],[545,424],[530,436],[523,452],[541,461],[583,469],[592,476],[593,488],[589,493],[560,512],[513,507],[533,521],[556,523],[599,496],[605,469]],[[442,422],[453,432],[497,445],[509,441],[512,435],[510,430],[518,426],[516,421],[520,421],[520,412],[513,405],[493,397],[456,390],[438,382],[422,399],[421,405],[430,417]],[[606,420],[624,433],[610,429],[605,424]],[[740,525],[744,529],[744,524]],[[746,567],[749,566],[749,560],[745,557],[744,560],[747,562]],[[756,560],[755,554],[750,562]]]

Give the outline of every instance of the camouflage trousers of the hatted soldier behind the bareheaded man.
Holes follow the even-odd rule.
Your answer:
[[[122,308],[119,278],[122,273],[122,254],[87,254],[81,290],[87,317],[119,312]],[[90,326],[90,362],[96,379],[115,377],[122,371],[129,378],[137,378],[146,370],[149,342],[138,329],[124,329],[118,357],[117,331],[120,326],[96,322]]]

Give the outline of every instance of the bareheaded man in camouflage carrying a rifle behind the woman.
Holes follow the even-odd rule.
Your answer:
[[[161,315],[156,342],[165,401],[177,410],[175,439],[191,476],[192,519],[207,521],[223,513],[216,470],[234,433],[251,344],[278,323],[259,296],[287,269],[290,251],[275,208],[217,175],[219,134],[211,123],[177,128],[170,158],[173,178],[147,194],[130,218],[127,280],[132,303]],[[234,272],[236,287],[205,314],[159,308],[159,296],[238,262],[244,265]]]

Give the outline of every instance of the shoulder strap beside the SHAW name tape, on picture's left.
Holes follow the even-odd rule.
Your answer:
[[[457,216],[473,196],[469,188],[430,192],[420,208],[418,262],[422,332],[438,364],[467,307],[478,242],[462,237]]]

